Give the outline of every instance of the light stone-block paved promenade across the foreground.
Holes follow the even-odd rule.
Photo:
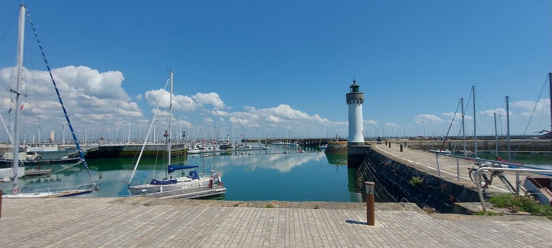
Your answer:
[[[0,247],[552,247],[552,221],[378,203],[3,199]],[[315,209],[318,208],[318,209]]]

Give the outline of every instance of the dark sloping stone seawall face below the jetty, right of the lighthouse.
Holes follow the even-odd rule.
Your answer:
[[[420,179],[416,183],[416,179]],[[399,163],[369,149],[358,169],[358,186],[365,195],[364,181],[376,182],[381,198],[429,206],[440,213],[452,213],[455,202],[478,202],[477,191]],[[411,182],[412,181],[412,182]]]

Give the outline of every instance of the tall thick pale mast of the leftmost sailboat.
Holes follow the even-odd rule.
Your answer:
[[[21,105],[21,85],[23,84],[23,41],[25,38],[25,6],[19,8],[19,36],[17,40],[17,89],[15,90],[15,121],[13,124],[13,192],[19,193],[17,177],[19,176],[19,120]]]

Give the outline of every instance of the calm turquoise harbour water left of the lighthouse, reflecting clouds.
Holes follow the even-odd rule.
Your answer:
[[[315,148],[272,145],[272,150],[189,155],[173,158],[177,164],[199,165],[199,173],[220,172],[227,192],[219,199],[232,201],[337,201],[360,202],[355,185],[356,169],[347,168],[347,155],[330,155]],[[301,149],[301,152],[299,152]],[[285,153],[284,153],[285,152]],[[140,161],[132,184],[145,184],[152,178],[162,179],[165,158]],[[127,182],[135,159],[87,160],[95,181],[101,182],[97,197],[128,196]],[[173,163],[175,164],[175,163]],[[63,168],[52,167],[52,171]],[[182,171],[187,174],[188,170]],[[176,173],[176,172],[174,172]],[[173,173],[173,174],[174,174]],[[24,190],[47,187],[71,187],[89,182],[84,166],[65,169],[38,181],[24,180]],[[4,184],[8,188],[10,184]]]

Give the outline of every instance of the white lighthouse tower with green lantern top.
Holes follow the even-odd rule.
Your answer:
[[[364,145],[362,125],[362,103],[364,93],[359,92],[359,86],[355,80],[351,84],[351,92],[347,93],[347,105],[349,105],[349,137],[347,146]]]

